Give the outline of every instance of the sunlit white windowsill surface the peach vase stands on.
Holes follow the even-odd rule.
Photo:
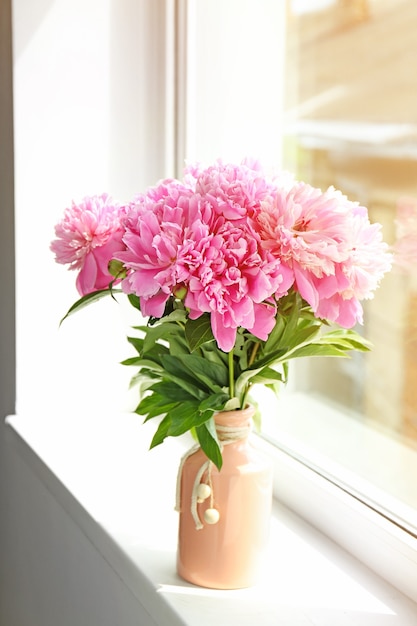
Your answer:
[[[416,604],[278,502],[259,585],[189,585],[175,572],[180,441],[149,452],[154,427],[130,414],[7,421],[9,444],[161,626],[417,623]]]

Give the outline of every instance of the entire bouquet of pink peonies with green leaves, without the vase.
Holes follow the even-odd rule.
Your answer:
[[[124,363],[137,413],[162,417],[151,445],[191,430],[218,467],[214,412],[277,389],[291,359],[368,350],[352,328],[391,266],[366,208],[249,160],[189,166],[128,204],[85,198],[55,233],[56,261],[78,270],[67,315],[124,293],[148,318]]]

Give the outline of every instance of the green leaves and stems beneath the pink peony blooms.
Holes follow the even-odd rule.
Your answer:
[[[106,295],[111,288],[89,294],[68,311],[71,315]],[[128,296],[140,311],[139,298]],[[326,329],[327,327],[327,329]],[[214,340],[210,316],[188,318],[183,303],[170,298],[163,317],[134,326],[128,342],[136,355],[122,363],[138,369],[132,384],[140,390],[136,413],[145,421],[158,419],[151,447],[166,437],[191,431],[209,459],[220,468],[221,449],[214,413],[244,408],[253,385],[277,390],[288,377],[288,363],[310,356],[347,357],[352,350],[367,351],[370,344],[353,330],[330,329],[314,317],[309,305],[294,291],[278,302],[276,324],[266,341],[239,329],[231,353]]]

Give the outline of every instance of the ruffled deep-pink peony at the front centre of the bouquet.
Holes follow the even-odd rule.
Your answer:
[[[277,291],[286,293],[293,280],[279,259],[259,247],[251,229],[223,220],[215,233],[188,240],[178,264],[190,318],[210,313],[214,337],[224,352],[233,348],[240,326],[261,339],[268,337],[276,307],[263,303]]]

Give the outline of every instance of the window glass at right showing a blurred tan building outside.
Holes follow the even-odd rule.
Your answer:
[[[287,2],[285,167],[367,206],[397,252],[358,329],[372,352],[311,360],[297,385],[408,452],[417,450],[416,32],[414,0]]]

